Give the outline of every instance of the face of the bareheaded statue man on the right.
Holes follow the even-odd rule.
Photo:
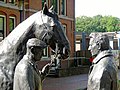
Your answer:
[[[99,45],[95,42],[95,38],[90,38],[88,50],[90,50],[92,56],[95,56],[99,53],[99,48]]]

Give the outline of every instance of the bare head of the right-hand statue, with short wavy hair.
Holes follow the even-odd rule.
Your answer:
[[[103,33],[91,33],[90,35],[89,48],[92,56],[98,55],[101,51],[109,50],[109,38]]]

